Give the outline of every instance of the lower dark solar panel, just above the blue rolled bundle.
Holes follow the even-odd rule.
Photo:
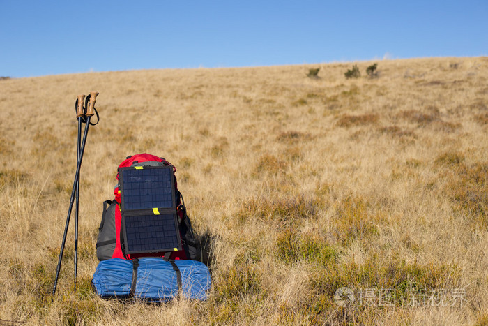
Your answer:
[[[181,250],[176,214],[123,216],[126,253]]]

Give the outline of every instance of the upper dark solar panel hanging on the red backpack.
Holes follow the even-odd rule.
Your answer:
[[[153,209],[174,207],[173,168],[169,166],[121,168],[122,208]]]

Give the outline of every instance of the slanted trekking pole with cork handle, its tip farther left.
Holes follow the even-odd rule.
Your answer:
[[[77,189],[77,182],[79,180],[79,170],[82,167],[82,161],[83,161],[83,152],[85,149],[86,145],[86,135],[88,135],[88,129],[90,126],[90,119],[93,116],[93,111],[95,110],[95,102],[96,98],[98,96],[98,92],[92,91],[89,96],[86,97],[86,126],[83,134],[83,140],[82,140],[82,145],[79,149],[79,160],[77,161],[77,166],[76,166],[76,173],[75,173],[75,181],[73,181],[73,188],[71,190],[71,198],[70,198],[70,207],[68,208],[68,215],[66,216],[66,225],[64,227],[64,233],[63,233],[63,242],[61,243],[61,250],[59,251],[59,259],[58,259],[58,267],[56,268],[56,278],[54,279],[54,286],[52,288],[52,297],[54,299],[54,295],[56,294],[56,286],[58,284],[58,278],[59,278],[59,271],[61,270],[61,260],[63,260],[63,251],[64,251],[64,245],[66,244],[66,235],[68,234],[68,226],[70,225],[70,216],[71,216],[71,211],[73,209],[73,202],[75,200],[75,192]],[[78,103],[79,106],[79,103]],[[82,117],[80,117],[82,119]],[[98,121],[97,121],[98,123]]]

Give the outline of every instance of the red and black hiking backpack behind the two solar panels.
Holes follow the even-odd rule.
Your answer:
[[[128,168],[135,166],[171,166],[173,172],[176,172],[174,165],[158,156],[151,154],[137,154],[128,156],[119,168]],[[117,175],[119,180],[119,175]],[[165,257],[167,259],[192,259],[201,260],[200,246],[197,241],[195,231],[192,228],[190,218],[186,214],[186,208],[183,196],[178,191],[176,176],[174,177],[174,188],[176,193],[176,214],[178,216],[178,229],[181,237],[181,246],[183,250],[159,253],[132,253],[124,251],[123,236],[121,230],[121,192],[119,184],[114,188],[114,200],[103,202],[103,213],[100,228],[98,228],[98,238],[96,244],[98,260],[107,260],[111,258],[121,258],[131,260],[138,257]]]

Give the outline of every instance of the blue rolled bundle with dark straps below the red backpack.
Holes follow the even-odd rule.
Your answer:
[[[178,295],[205,300],[211,287],[210,272],[203,263],[162,258],[102,260],[91,282],[101,297],[151,302],[165,302]]]

